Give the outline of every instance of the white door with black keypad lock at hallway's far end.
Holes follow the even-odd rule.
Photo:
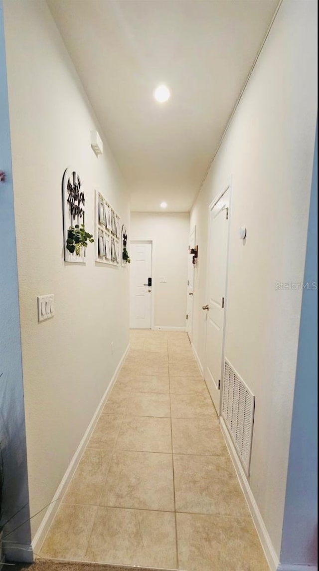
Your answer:
[[[131,242],[130,328],[151,329],[152,244]]]

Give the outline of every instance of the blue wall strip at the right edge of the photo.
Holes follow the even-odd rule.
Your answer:
[[[281,561],[318,562],[318,129],[302,292]]]

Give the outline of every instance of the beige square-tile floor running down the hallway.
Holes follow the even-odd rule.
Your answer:
[[[131,331],[40,555],[268,571],[186,333]]]

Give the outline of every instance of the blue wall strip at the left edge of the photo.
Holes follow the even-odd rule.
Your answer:
[[[17,251],[15,243],[9,107],[7,97],[5,37],[0,0],[0,444],[3,459],[4,489],[2,519],[7,557],[28,558],[31,533],[27,481],[25,409],[21,363],[18,300]],[[9,521],[10,520],[10,521]],[[23,524],[23,522],[25,522]],[[14,533],[13,530],[18,528]],[[18,550],[8,545],[19,546]],[[30,557],[30,553],[29,553]],[[1,561],[0,561],[1,565]]]

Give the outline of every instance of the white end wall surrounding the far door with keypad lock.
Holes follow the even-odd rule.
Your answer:
[[[131,213],[130,240],[154,240],[154,327],[186,326],[189,214]],[[166,283],[160,283],[165,278]]]

